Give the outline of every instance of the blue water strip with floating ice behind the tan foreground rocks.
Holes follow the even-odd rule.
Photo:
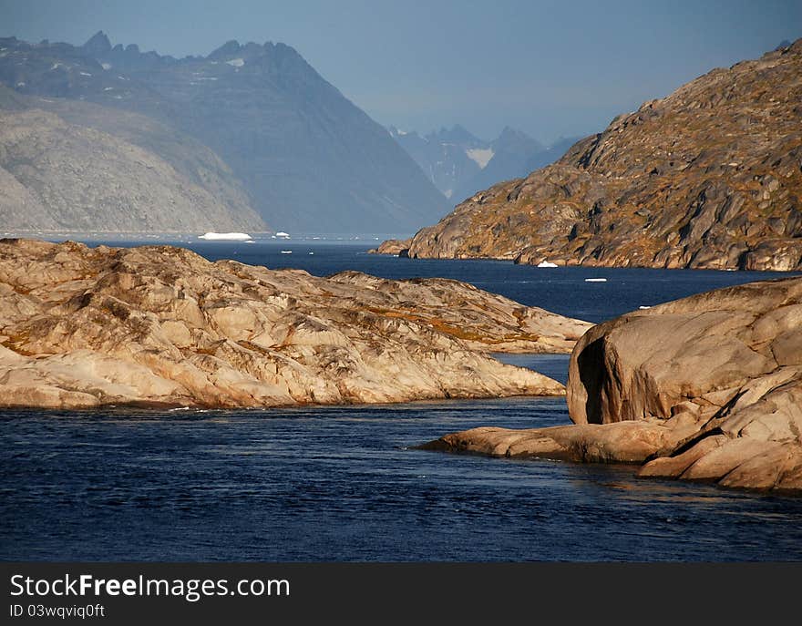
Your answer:
[[[188,242],[189,241],[189,242]],[[371,245],[377,245],[373,241]],[[94,244],[93,244],[94,245]],[[120,245],[113,243],[109,245]],[[129,245],[137,245],[132,242]],[[234,259],[272,269],[297,268],[315,276],[356,270],[383,278],[453,278],[500,293],[529,306],[602,322],[637,309],[693,293],[744,282],[790,276],[779,272],[715,272],[707,270],[644,270],[583,267],[538,268],[506,261],[399,259],[368,254],[368,244],[310,241],[182,241],[212,261]],[[284,254],[282,251],[292,251]],[[313,254],[310,254],[313,252]],[[607,282],[585,282],[606,278]]]

